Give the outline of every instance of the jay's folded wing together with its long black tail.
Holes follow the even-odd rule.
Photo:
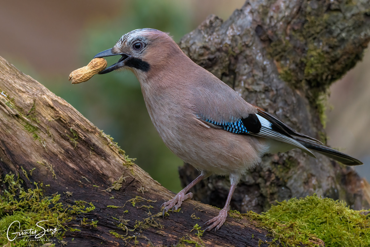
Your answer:
[[[204,126],[281,141],[315,157],[309,150],[312,149],[349,166],[362,164],[356,158],[323,146],[320,141],[293,130],[272,114],[247,103],[211,73],[202,78],[203,81],[193,81],[196,86],[191,92],[194,96],[191,102],[195,102],[196,118]]]

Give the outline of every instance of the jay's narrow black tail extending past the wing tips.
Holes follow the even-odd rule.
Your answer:
[[[330,147],[325,147],[323,145],[320,145],[318,143],[314,143],[312,141],[309,141],[309,140],[304,140],[303,138],[296,138],[296,140],[302,144],[303,146],[305,146],[306,148],[309,148],[309,149],[312,149],[312,150],[315,150],[317,152],[319,152],[320,154],[323,154],[329,158],[332,158],[336,161],[339,161],[340,163],[343,163],[347,166],[358,166],[358,165],[362,165],[363,163],[359,160],[357,160],[356,158],[353,158],[345,153],[342,153],[338,150],[335,150],[333,148],[330,148]]]

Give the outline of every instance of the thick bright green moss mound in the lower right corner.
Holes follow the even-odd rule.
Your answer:
[[[330,198],[292,198],[272,206],[265,214],[285,222],[299,219],[296,228],[315,234],[326,246],[370,246],[370,215]]]

